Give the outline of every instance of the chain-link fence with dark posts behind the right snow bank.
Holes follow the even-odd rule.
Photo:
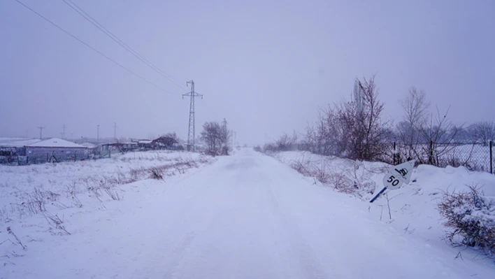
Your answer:
[[[391,143],[383,156],[383,161],[401,164],[416,159],[419,164],[433,166],[466,166],[471,171],[487,171],[494,173],[494,143],[419,143],[400,145]]]

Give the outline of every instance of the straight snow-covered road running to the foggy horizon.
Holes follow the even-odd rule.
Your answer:
[[[252,150],[157,183],[6,278],[486,278]],[[129,196],[129,195],[128,195]],[[125,208],[122,209],[122,208]],[[34,247],[36,250],[36,245]],[[474,274],[477,274],[476,277]],[[1,276],[0,276],[1,277]]]

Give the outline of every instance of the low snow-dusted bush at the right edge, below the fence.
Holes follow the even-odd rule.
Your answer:
[[[470,186],[468,192],[444,192],[438,210],[450,228],[447,239],[451,243],[460,238],[463,245],[495,255],[495,197]]]

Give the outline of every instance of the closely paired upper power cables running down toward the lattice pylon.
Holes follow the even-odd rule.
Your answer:
[[[146,64],[146,66],[150,67],[153,71],[156,71],[157,73],[159,73],[160,76],[163,76],[164,78],[169,80],[174,85],[177,85],[179,88],[185,89],[184,87],[179,85],[177,82],[175,82],[175,80],[173,80],[173,78],[171,78],[166,73],[164,73],[164,71],[162,71],[162,69],[159,69],[157,66],[155,66],[155,64],[152,64],[150,61],[148,61],[148,59],[145,59],[142,55],[140,55],[138,52],[136,52],[136,50],[132,49],[131,47],[129,47],[129,45],[124,43],[119,37],[115,36],[111,31],[109,31],[108,29],[103,27],[103,25],[101,25],[97,20],[95,20],[94,17],[92,17],[91,15],[86,13],[84,10],[82,10],[82,8],[80,8],[76,3],[74,3],[71,0],[68,0],[68,1],[62,0],[62,1],[64,1],[64,3],[66,3],[67,6],[71,7],[73,10],[75,10],[79,15],[84,17],[85,20],[87,20],[88,22],[93,24],[96,28],[98,28],[100,31],[102,31],[104,34],[106,34],[106,36],[108,36],[113,41],[115,41],[115,43],[118,43],[120,46],[122,46],[122,48],[127,50],[127,52],[131,53],[131,55],[134,55],[136,58],[141,60],[141,62]]]

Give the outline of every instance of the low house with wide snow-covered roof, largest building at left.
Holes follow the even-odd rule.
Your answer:
[[[50,138],[25,145],[25,155],[29,160],[37,162],[58,162],[88,157],[87,148],[62,138]]]

